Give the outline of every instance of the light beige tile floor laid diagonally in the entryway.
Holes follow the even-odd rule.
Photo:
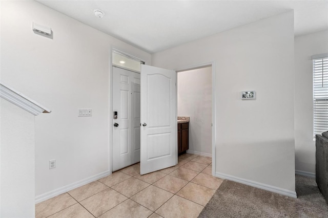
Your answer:
[[[176,166],[140,175],[140,164],[35,205],[39,217],[197,217],[222,179],[211,158],[183,154]]]

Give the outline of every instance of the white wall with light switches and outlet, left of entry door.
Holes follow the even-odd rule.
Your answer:
[[[52,110],[35,118],[37,201],[110,173],[110,47],[147,63],[151,55],[35,1],[1,2],[1,46],[1,80]]]

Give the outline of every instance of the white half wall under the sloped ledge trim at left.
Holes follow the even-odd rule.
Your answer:
[[[1,217],[34,217],[34,115],[1,98]]]

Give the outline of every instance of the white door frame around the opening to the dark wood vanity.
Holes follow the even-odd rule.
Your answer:
[[[199,68],[206,68],[206,67],[212,67],[212,176],[215,176],[215,160],[216,160],[216,155],[215,155],[215,144],[216,144],[216,137],[215,137],[215,127],[216,127],[216,122],[215,122],[215,62],[207,62],[207,63],[200,63],[196,64],[193,66],[187,66],[183,68],[176,69],[175,71],[181,72],[181,71],[190,71],[190,70],[195,70]]]

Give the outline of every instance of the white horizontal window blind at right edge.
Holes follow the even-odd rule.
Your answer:
[[[328,130],[328,56],[313,59],[313,136]]]

